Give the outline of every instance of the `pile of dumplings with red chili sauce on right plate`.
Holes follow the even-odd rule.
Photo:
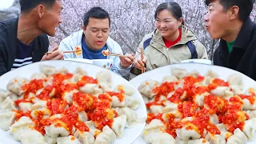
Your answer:
[[[245,144],[254,139],[256,89],[244,90],[239,74],[224,81],[211,70],[202,76],[172,68],[162,82],[148,79],[138,90],[147,106],[146,143]]]

